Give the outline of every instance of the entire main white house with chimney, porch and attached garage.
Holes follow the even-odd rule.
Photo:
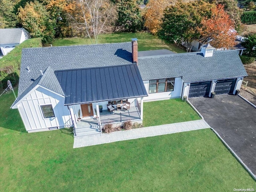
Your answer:
[[[102,123],[142,122],[146,101],[235,94],[244,76],[236,50],[215,51],[210,44],[181,54],[138,52],[136,39],[26,48],[12,108],[28,132],[74,126],[77,136],[96,134]]]

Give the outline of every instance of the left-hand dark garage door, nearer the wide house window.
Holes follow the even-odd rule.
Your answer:
[[[191,83],[188,97],[209,96],[211,81]]]

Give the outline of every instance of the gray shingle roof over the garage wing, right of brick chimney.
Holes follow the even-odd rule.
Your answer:
[[[182,76],[184,82],[247,76],[236,50],[214,51],[212,57],[200,52],[139,57],[143,80]]]

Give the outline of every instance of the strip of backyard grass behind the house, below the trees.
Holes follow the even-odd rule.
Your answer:
[[[137,33],[112,33],[112,34],[102,34],[99,36],[98,43],[118,43],[118,42],[130,42],[131,38],[138,39],[138,50],[156,50],[156,49],[168,49],[173,52],[185,52],[181,50],[174,44],[167,44],[162,42],[156,36],[148,32],[137,32]],[[68,45],[82,45],[91,44],[89,39],[85,38],[61,38],[56,39],[52,45],[53,46],[68,46]]]

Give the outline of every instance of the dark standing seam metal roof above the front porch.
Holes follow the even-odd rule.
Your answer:
[[[55,71],[65,105],[147,96],[137,65]]]

